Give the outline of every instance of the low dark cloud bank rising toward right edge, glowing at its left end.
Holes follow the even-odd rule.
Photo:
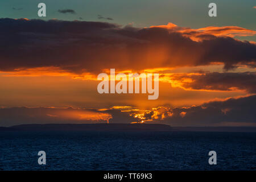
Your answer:
[[[256,123],[256,95],[211,101],[200,106],[158,107],[143,114],[142,121],[171,126],[232,126],[233,123]]]

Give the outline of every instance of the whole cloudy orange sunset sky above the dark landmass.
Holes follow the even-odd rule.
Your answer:
[[[256,3],[210,2],[1,1],[0,126],[256,126]],[[158,99],[98,93],[110,68],[159,73]]]

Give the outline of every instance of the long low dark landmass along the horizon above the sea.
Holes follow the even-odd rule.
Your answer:
[[[0,131],[209,131],[256,132],[256,127],[171,127],[162,124],[30,124],[0,127]]]

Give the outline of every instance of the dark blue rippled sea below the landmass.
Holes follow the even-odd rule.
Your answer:
[[[45,166],[38,164],[41,150]],[[256,133],[0,133],[0,170],[255,169]]]

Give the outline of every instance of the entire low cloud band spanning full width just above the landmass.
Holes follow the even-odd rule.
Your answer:
[[[11,107],[0,109],[0,126],[28,123],[164,123],[171,126],[233,126],[256,123],[256,95],[211,101],[200,106],[160,106],[149,111],[110,108],[57,109]],[[88,117],[87,117],[88,116]],[[249,124],[248,124],[249,123]]]

